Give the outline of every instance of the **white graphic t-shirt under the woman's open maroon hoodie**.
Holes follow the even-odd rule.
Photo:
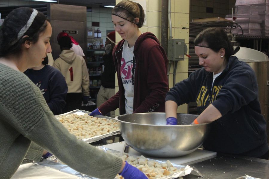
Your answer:
[[[126,114],[132,114],[134,112],[134,85],[132,83],[132,74],[134,58],[134,47],[129,48],[127,41],[123,44],[123,52],[120,64],[120,75],[124,87],[125,96],[125,110]],[[133,66],[134,65],[134,66]]]

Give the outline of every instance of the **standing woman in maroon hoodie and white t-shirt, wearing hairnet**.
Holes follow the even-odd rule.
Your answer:
[[[90,115],[118,107],[120,115],[165,111],[168,60],[156,36],[139,30],[144,17],[142,6],[132,1],[112,9],[114,29],[123,38],[113,49],[119,91]]]

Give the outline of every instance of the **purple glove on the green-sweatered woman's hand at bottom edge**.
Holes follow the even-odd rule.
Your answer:
[[[125,166],[119,175],[123,176],[125,179],[148,179],[143,172],[141,172],[139,169],[136,167],[130,165],[125,161]]]

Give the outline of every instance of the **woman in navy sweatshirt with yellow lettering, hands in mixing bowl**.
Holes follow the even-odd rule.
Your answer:
[[[203,68],[166,94],[167,124],[176,121],[179,105],[196,101],[199,116],[192,124],[212,122],[204,149],[268,159],[266,121],[253,69],[231,56],[236,52],[221,28],[203,30],[194,45]]]

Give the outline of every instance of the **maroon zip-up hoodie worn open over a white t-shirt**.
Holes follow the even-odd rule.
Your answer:
[[[106,114],[120,108],[120,115],[125,114],[124,87],[120,75],[120,63],[123,51],[121,40],[113,49],[113,60],[117,71],[119,91],[103,103],[99,110]],[[165,112],[165,95],[169,91],[167,81],[167,56],[156,36],[143,33],[134,47],[134,112]]]

